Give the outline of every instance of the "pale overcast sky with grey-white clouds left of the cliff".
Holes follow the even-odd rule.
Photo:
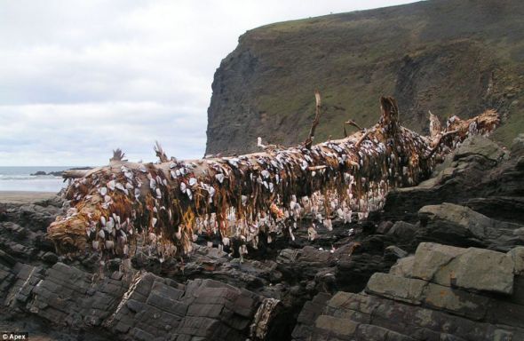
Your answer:
[[[409,2],[0,0],[0,166],[154,161],[155,139],[202,157],[213,74],[246,30]]]

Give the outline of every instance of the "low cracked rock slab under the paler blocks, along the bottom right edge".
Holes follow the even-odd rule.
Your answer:
[[[387,281],[381,282],[387,286]],[[491,341],[524,337],[518,306],[431,282],[419,293],[420,305],[369,292],[339,291],[327,300],[315,297],[300,313],[307,318],[298,319],[293,339]],[[354,331],[349,329],[355,325]]]

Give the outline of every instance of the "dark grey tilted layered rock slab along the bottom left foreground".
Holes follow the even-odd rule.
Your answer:
[[[147,272],[105,276],[60,262],[48,269],[12,263],[0,253],[4,308],[33,315],[48,329],[68,330],[71,338],[81,337],[76,334],[82,330],[107,339],[178,335],[175,339],[240,341],[254,337],[255,329],[263,338],[281,305],[278,299],[212,280],[182,285]]]

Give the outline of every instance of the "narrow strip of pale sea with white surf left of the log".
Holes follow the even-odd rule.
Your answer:
[[[3,167],[0,166],[0,191],[34,191],[34,192],[60,192],[67,186],[61,177],[52,175],[31,175],[37,171],[66,171],[72,167]]]

